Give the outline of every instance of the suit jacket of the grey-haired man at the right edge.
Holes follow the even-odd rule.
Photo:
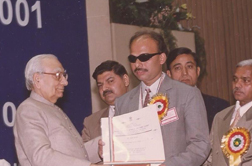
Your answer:
[[[208,159],[208,163],[205,165],[212,165],[212,166],[229,165],[229,161],[227,157],[223,154],[220,146],[223,135],[226,134],[230,129],[230,122],[234,110],[235,106],[233,105],[216,114],[210,134],[210,139],[212,143],[211,157]],[[250,131],[250,136],[252,136],[252,107],[241,117],[236,127],[244,127],[248,129]],[[242,156],[242,162],[240,163],[240,166],[251,166],[251,165],[252,165],[252,144],[250,144],[248,152]]]

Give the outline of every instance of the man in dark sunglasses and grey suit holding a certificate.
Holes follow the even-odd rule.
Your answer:
[[[168,111],[160,121],[165,149],[163,165],[201,165],[209,154],[210,143],[200,91],[162,72],[168,51],[160,34],[137,32],[130,39],[129,48],[131,69],[141,83],[116,99],[116,115],[145,107],[146,100],[158,93],[167,96]]]

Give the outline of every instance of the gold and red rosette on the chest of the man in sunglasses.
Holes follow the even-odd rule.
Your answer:
[[[162,93],[158,93],[155,96],[153,96],[149,102],[149,104],[156,104],[158,107],[158,117],[161,121],[167,114],[168,110],[168,98],[166,95]]]

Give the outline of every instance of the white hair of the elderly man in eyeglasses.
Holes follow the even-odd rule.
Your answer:
[[[28,90],[33,88],[33,75],[35,73],[43,72],[42,60],[45,58],[58,59],[53,54],[40,54],[32,57],[25,67],[25,85]]]

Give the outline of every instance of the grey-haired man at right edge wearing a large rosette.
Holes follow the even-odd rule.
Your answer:
[[[252,165],[251,140],[243,137],[245,133],[252,137],[252,59],[241,61],[236,65],[233,75],[233,95],[236,104],[222,110],[214,117],[210,134],[212,153],[204,166]],[[248,131],[237,134],[241,131],[240,127]],[[224,135],[229,137],[230,140],[230,143],[226,144],[227,146],[221,145]],[[244,149],[245,141],[249,145],[247,151]],[[231,154],[230,159],[235,158],[234,155],[238,155],[241,151],[246,152],[241,155],[240,161],[232,164],[229,163],[229,159],[222,152],[222,148],[230,149],[228,151]]]

